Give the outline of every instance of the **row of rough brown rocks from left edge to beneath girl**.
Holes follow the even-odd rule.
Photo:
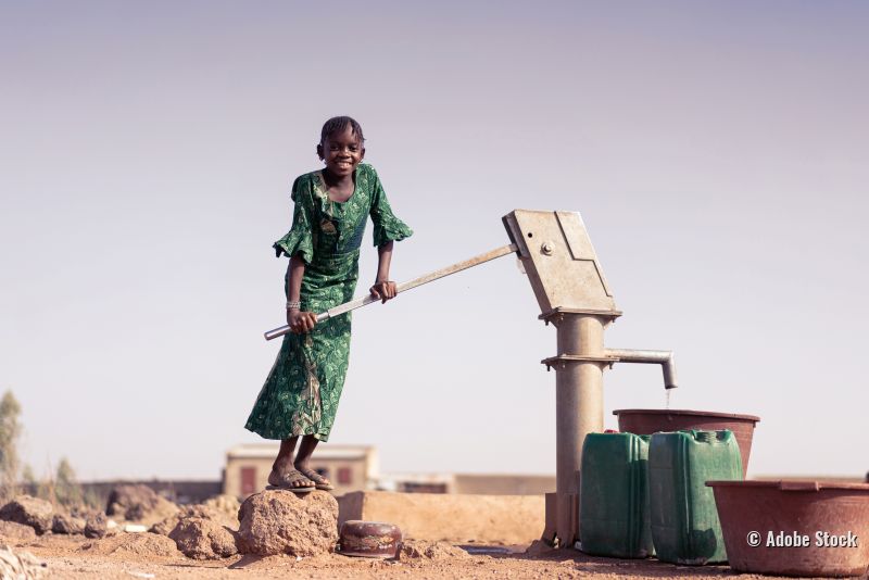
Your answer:
[[[152,533],[122,533],[122,529],[134,530],[118,527],[105,513],[56,512],[49,502],[21,495],[0,508],[0,540],[21,545],[50,531],[84,533],[98,540],[85,544],[87,550],[108,542],[105,549],[112,552],[172,556],[180,551],[194,559],[226,558],[239,552],[312,557],[331,554],[338,542],[338,502],[323,491],[299,495],[267,490],[241,505],[236,497],[221,495],[179,508],[146,486],[118,486],[110,494],[106,513],[140,521],[163,516],[154,519]]]

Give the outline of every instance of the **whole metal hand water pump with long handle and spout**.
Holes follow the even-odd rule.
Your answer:
[[[597,255],[576,212],[515,210],[503,218],[511,243],[398,286],[399,293],[515,253],[540,305],[540,319],[557,331],[556,355],[541,361],[555,369],[555,487],[547,497],[544,539],[572,546],[579,521],[579,478],[582,443],[603,431],[603,370],[615,363],[653,363],[664,370],[664,387],[677,386],[670,351],[637,351],[604,346],[604,329],[621,312],[606,283]],[[322,321],[377,302],[367,295],[317,315]],[[289,327],[269,330],[265,338],[286,335]]]

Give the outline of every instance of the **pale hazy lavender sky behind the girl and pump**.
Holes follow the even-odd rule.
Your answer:
[[[0,389],[25,459],[217,478],[284,318],[289,186],[349,114],[405,280],[582,213],[612,348],[759,415],[750,475],[869,469],[869,3],[0,1]],[[369,226],[360,291],[373,280]],[[513,257],[354,315],[331,442],[554,472],[555,331]],[[657,367],[605,374],[663,407]]]

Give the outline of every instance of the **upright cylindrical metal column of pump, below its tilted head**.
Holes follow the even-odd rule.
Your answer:
[[[603,431],[604,328],[618,313],[556,308],[541,316],[557,329],[558,355],[543,363],[555,368],[556,521],[558,543],[571,547],[579,528],[579,470],[585,436]],[[547,522],[551,525],[552,522]]]

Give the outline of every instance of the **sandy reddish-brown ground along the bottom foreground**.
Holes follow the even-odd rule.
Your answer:
[[[469,554],[443,559],[379,560],[337,554],[302,558],[235,556],[198,562],[179,554],[118,547],[122,539],[99,541],[80,537],[45,535],[26,550],[48,564],[51,579],[287,579],[287,578],[770,578],[735,575],[727,566],[687,567],[655,559],[599,558],[576,551],[550,551],[530,556],[522,546],[494,549],[501,553]]]

